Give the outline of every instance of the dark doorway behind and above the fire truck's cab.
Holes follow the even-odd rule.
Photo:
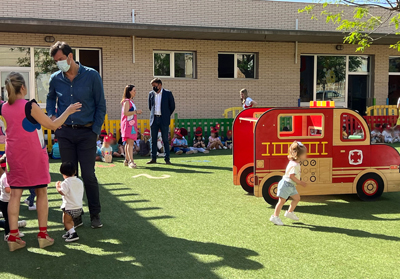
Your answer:
[[[368,98],[368,76],[349,75],[348,107],[365,115]]]

